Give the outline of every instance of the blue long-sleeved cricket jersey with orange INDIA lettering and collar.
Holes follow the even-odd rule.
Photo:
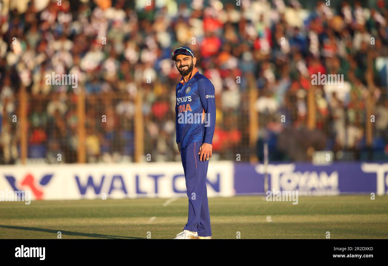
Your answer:
[[[194,68],[191,77],[183,77],[175,90],[177,143],[181,148],[193,142],[212,143],[216,122],[214,86]]]

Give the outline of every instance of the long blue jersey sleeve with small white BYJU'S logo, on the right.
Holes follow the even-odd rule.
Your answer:
[[[205,111],[205,134],[204,143],[211,144],[213,141],[216,125],[216,99],[213,84],[208,79],[203,79],[198,84],[199,98]]]

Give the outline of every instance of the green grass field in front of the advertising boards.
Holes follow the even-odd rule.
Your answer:
[[[174,238],[187,222],[187,198],[0,202],[0,238]],[[163,206],[166,205],[167,206]],[[213,238],[388,238],[388,196],[209,198]]]

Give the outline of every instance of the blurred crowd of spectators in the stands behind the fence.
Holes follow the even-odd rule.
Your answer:
[[[147,5],[150,2],[151,5]],[[332,1],[333,2],[333,1]],[[297,0],[18,0],[0,14],[0,163],[20,158],[21,88],[28,93],[28,158],[77,160],[77,99],[85,91],[87,162],[134,155],[135,100],[142,93],[144,154],[178,160],[173,49],[187,45],[215,87],[218,159],[308,161],[388,158],[388,3],[330,7]],[[47,84],[47,74],[78,75],[78,87]],[[343,86],[314,85],[313,74],[343,75]],[[258,99],[249,104],[250,89]],[[366,106],[370,104],[370,106]],[[366,141],[367,109],[374,116]],[[249,117],[258,112],[256,145]],[[311,114],[310,114],[311,115]],[[105,118],[105,121],[104,121]],[[251,136],[252,137],[252,136]],[[178,158],[178,159],[177,159]]]

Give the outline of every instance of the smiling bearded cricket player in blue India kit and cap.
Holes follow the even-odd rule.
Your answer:
[[[175,239],[211,239],[205,181],[216,121],[214,86],[198,72],[197,59],[189,47],[181,46],[171,56],[182,75],[175,90],[175,113],[177,144],[189,197],[187,224]]]

